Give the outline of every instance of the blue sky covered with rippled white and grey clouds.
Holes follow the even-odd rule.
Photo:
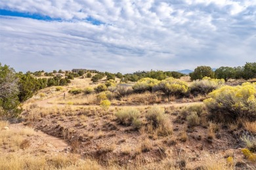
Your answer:
[[[256,61],[255,0],[1,0],[0,62],[112,73]]]

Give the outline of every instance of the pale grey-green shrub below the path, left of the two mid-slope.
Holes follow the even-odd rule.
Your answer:
[[[126,126],[135,125],[140,126],[140,121],[138,120],[140,116],[140,112],[134,108],[126,108],[118,110],[115,114],[116,120],[119,124],[123,124]]]

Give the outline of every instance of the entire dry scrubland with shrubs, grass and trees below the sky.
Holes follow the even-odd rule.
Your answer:
[[[1,66],[0,169],[255,169],[255,71],[24,75]]]

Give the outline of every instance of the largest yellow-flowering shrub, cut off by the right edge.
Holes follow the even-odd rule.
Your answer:
[[[256,121],[256,83],[242,86],[223,86],[209,93],[203,102],[217,122],[234,122],[238,118]]]

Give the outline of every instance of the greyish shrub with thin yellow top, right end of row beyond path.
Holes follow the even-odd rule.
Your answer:
[[[203,80],[194,80],[190,84],[190,92],[194,95],[207,94],[224,84],[224,79],[204,77]]]

